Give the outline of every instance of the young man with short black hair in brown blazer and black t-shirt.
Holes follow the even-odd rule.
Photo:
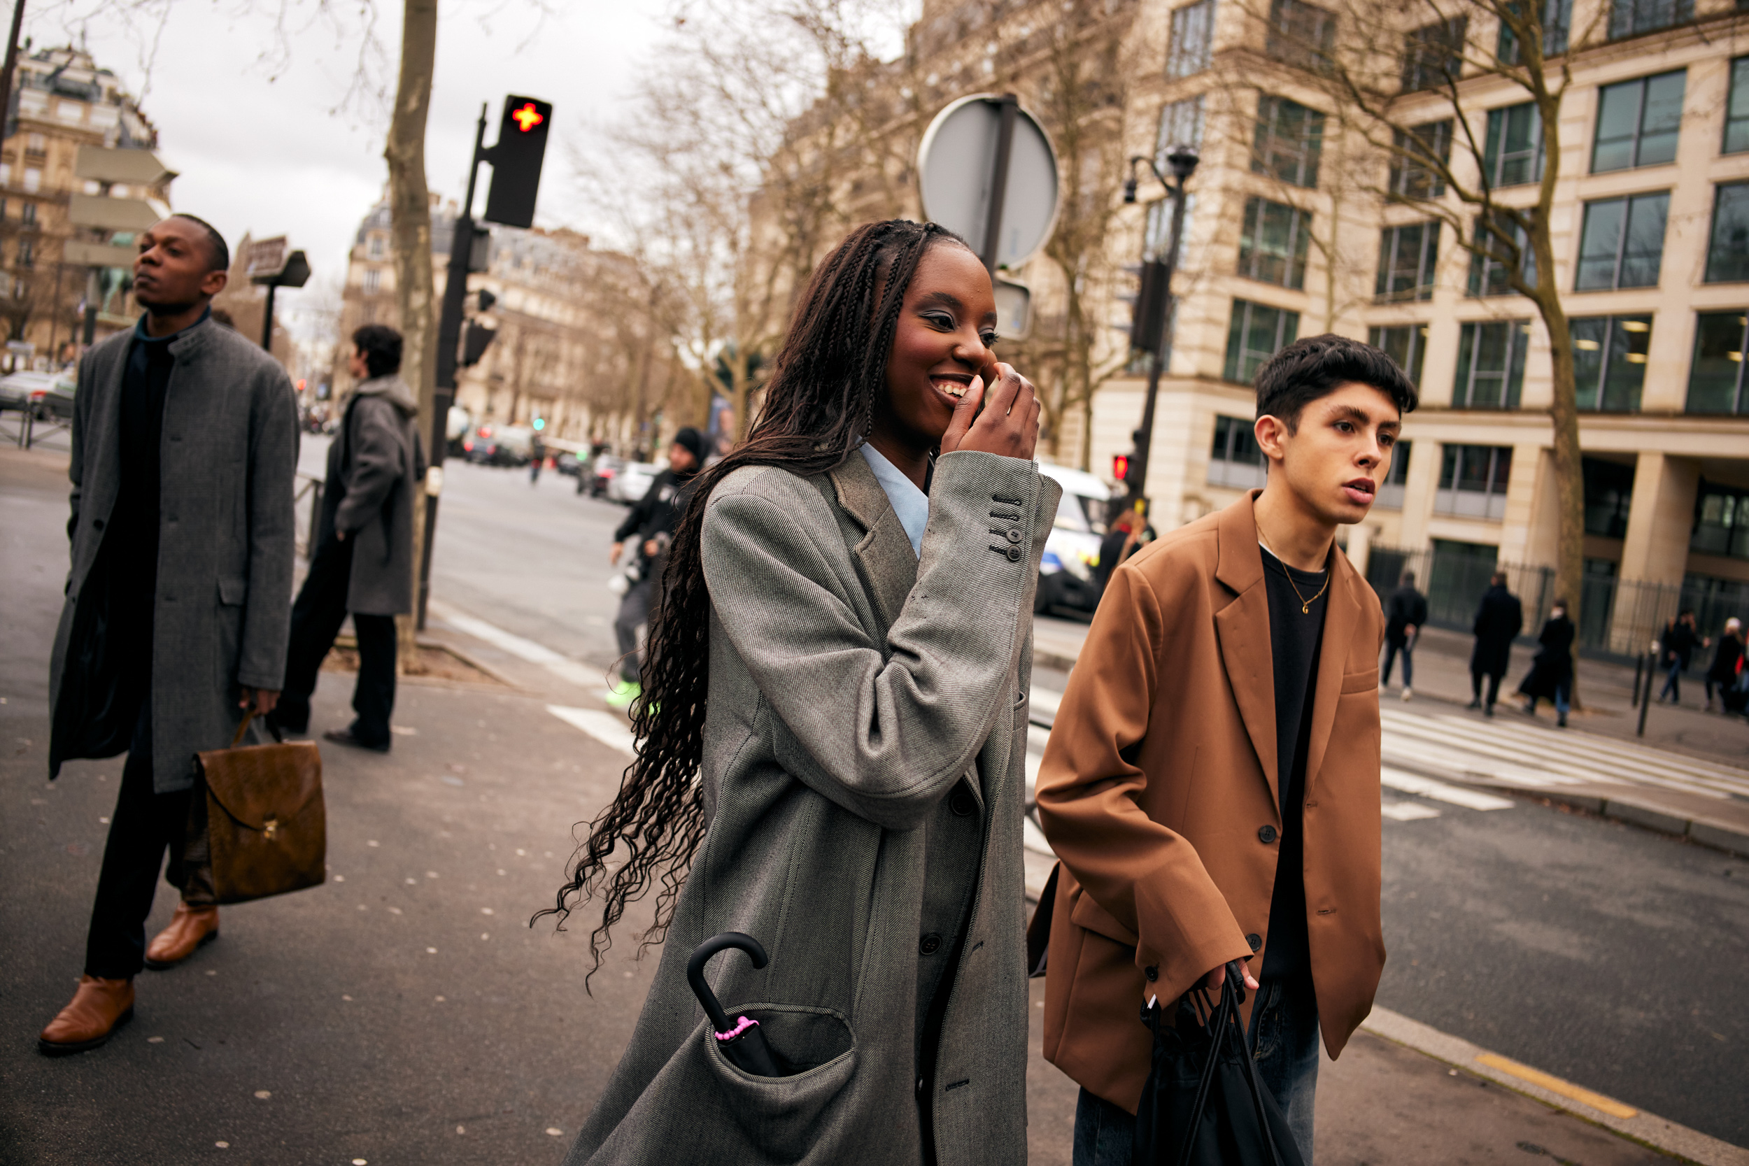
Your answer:
[[[1336,547],[1390,470],[1415,386],[1340,336],[1256,379],[1268,486],[1112,572],[1039,771],[1062,858],[1044,1056],[1081,1084],[1076,1166],[1130,1163],[1144,1002],[1245,965],[1259,1075],[1312,1161],[1317,1037],[1373,1005],[1378,598]]]

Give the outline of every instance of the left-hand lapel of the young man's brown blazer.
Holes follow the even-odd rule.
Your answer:
[[[1221,663],[1233,689],[1245,734],[1258,752],[1270,797],[1280,806],[1275,760],[1275,663],[1270,656],[1270,594],[1263,580],[1263,554],[1258,551],[1258,521],[1251,498],[1221,512],[1219,561],[1214,577],[1235,593],[1235,600],[1214,615],[1221,640]]]

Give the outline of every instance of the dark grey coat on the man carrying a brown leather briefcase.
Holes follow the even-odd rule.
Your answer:
[[[121,489],[131,344],[133,332],[121,332],[79,362],[72,570],[49,663],[51,767],[94,755],[80,738],[87,710],[70,708],[63,685],[87,666],[93,650],[80,640],[101,622],[94,612],[80,621],[79,601]],[[285,680],[297,472],[297,406],[273,357],[210,318],[170,351],[152,607],[152,785],[161,794],[192,785],[198,750],[229,743],[241,717],[238,685],[278,689]]]

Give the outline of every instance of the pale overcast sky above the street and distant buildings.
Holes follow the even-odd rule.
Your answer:
[[[311,287],[338,283],[359,220],[376,203],[387,166],[387,103],[346,98],[357,65],[359,17],[346,28],[317,16],[304,0],[301,26],[283,38],[289,52],[264,59],[280,42],[273,19],[257,16],[278,0],[175,0],[156,14],[117,14],[103,5],[79,19],[66,9],[26,7],[24,35],[35,49],[77,40],[80,30],[100,66],[121,75],[157,126],[157,154],[178,171],[177,210],[213,222],[234,245],[290,236],[310,255]],[[432,191],[458,199],[479,103],[488,103],[486,142],[495,136],[504,94],[553,101],[553,138],[535,220],[589,231],[570,198],[567,145],[589,149],[591,129],[619,115],[661,35],[668,0],[553,0],[540,19],[530,3],[444,0],[437,72],[425,140]],[[345,5],[339,5],[345,7]],[[387,56],[369,68],[392,89],[401,42],[401,3],[374,0],[376,35]],[[296,10],[296,5],[294,5]],[[149,45],[156,54],[147,59]],[[147,45],[147,47],[142,47]],[[273,73],[278,72],[276,77]],[[490,170],[481,170],[481,182]],[[484,206],[484,191],[476,208]],[[586,213],[586,212],[584,212]],[[296,294],[280,301],[296,318]],[[294,325],[296,327],[296,325]]]

